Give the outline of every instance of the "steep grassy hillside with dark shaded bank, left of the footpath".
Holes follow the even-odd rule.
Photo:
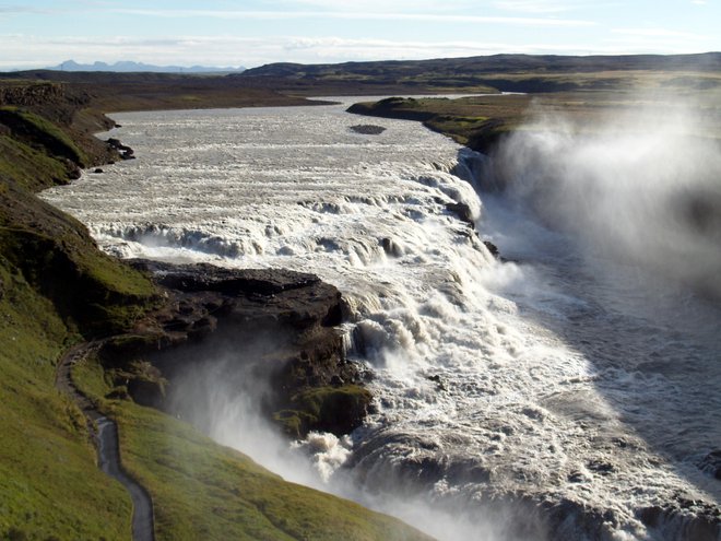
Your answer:
[[[155,303],[155,290],[101,254],[82,224],[34,196],[67,183],[92,153],[31,108],[0,108],[2,539],[130,532],[130,498],[95,468],[84,417],[55,389],[55,365],[83,336],[127,327]]]

